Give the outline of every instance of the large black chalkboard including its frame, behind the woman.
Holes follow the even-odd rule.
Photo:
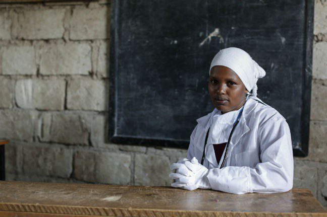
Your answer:
[[[295,156],[308,153],[313,0],[115,0],[109,136],[188,147],[213,110],[210,62],[239,47],[266,70],[258,97],[289,123]]]

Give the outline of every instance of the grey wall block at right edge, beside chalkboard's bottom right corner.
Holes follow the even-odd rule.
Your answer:
[[[308,160],[327,163],[327,122],[310,122],[310,140]]]

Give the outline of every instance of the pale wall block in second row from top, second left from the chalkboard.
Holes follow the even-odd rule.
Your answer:
[[[88,75],[91,71],[91,46],[86,43],[46,44],[39,55],[42,75]]]

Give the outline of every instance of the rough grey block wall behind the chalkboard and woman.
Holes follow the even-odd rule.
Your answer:
[[[110,1],[0,5],[7,180],[169,185],[186,150],[106,141]],[[327,2],[315,1],[310,144],[294,187],[327,207]]]

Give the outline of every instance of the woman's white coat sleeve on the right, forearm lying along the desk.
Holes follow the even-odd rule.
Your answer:
[[[284,118],[271,118],[258,129],[260,160],[255,167],[210,169],[211,188],[243,194],[286,192],[293,187],[293,152],[290,129]],[[241,144],[240,144],[241,145]]]

